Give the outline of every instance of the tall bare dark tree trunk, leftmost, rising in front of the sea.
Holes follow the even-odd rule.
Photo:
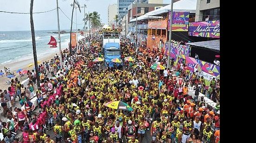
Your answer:
[[[30,28],[31,28],[31,36],[32,36],[34,64],[36,69],[37,89],[40,90],[39,71],[38,71],[37,55],[36,55],[35,29],[34,29],[34,21],[33,21],[33,3],[34,3],[34,0],[31,0],[30,1]]]

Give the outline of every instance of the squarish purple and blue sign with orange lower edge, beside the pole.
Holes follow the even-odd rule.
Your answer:
[[[171,12],[169,12],[168,30],[170,30]],[[173,12],[171,31],[188,31],[189,30],[190,12]]]

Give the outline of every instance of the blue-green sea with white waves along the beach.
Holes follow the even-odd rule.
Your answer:
[[[51,36],[53,36],[57,42],[59,41],[58,34],[47,33],[56,31],[57,30],[35,31],[38,57],[48,55],[49,53],[59,53],[59,44],[57,44],[57,48],[50,48],[50,45],[47,45]],[[60,34],[62,50],[68,48],[69,38],[69,33]],[[0,31],[0,65],[19,62],[30,58],[33,58],[31,31]]]

